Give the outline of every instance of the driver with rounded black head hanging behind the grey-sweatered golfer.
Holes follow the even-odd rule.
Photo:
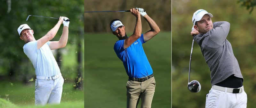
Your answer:
[[[194,30],[194,27],[192,27],[192,31]],[[194,34],[193,35],[193,41],[192,41],[192,47],[191,47],[191,53],[190,53],[190,59],[189,59],[189,70],[188,70],[188,90],[191,91],[191,92],[199,92],[201,90],[201,84],[196,81],[196,80],[193,80],[191,82],[190,81],[190,67],[191,67],[191,58],[192,58],[192,52],[193,52],[193,46],[194,46],[194,37],[196,35]]]

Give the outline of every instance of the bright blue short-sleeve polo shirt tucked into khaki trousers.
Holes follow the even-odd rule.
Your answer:
[[[153,69],[142,47],[143,43],[146,42],[141,34],[140,38],[126,49],[124,49],[124,40],[118,40],[114,45],[116,55],[123,61],[129,77],[142,78],[153,74]]]

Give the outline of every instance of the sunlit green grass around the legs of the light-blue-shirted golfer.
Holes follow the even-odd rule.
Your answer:
[[[35,107],[35,81],[27,85],[21,82],[1,81],[0,85],[0,98],[8,100],[19,108]],[[60,106],[70,106],[68,104],[76,104],[76,108],[82,108],[84,106],[84,91],[74,90],[73,83],[64,82]],[[43,108],[42,106],[37,107]]]

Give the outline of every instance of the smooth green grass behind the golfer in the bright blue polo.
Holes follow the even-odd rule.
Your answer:
[[[130,34],[127,34],[130,35]],[[85,107],[125,108],[126,75],[113,49],[112,33],[85,33]],[[160,32],[143,44],[154,71],[156,90],[153,108],[171,107],[171,32]]]

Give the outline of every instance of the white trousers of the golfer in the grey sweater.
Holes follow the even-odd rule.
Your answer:
[[[205,108],[246,108],[247,94],[212,89],[206,95]]]

